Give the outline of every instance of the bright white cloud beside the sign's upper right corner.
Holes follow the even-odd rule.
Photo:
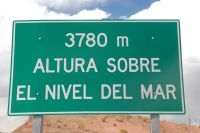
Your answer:
[[[200,49],[200,12],[199,1],[161,0],[143,10],[131,19],[179,19],[181,24],[181,41],[183,58],[199,57]]]

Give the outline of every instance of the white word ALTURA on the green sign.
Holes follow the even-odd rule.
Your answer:
[[[93,58],[46,58],[44,62],[42,62],[42,59],[39,58],[36,62],[33,73],[71,73],[90,71],[98,72]]]

